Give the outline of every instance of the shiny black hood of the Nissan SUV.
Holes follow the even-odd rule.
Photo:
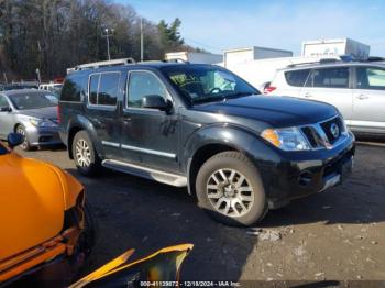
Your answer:
[[[316,123],[338,113],[334,107],[323,102],[262,95],[199,104],[193,110],[253,119],[274,128]]]

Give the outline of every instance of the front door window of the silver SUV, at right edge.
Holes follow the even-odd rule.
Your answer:
[[[358,67],[356,88],[385,90],[385,69],[376,67]]]

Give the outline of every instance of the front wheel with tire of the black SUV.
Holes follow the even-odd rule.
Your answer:
[[[224,224],[249,226],[267,213],[261,176],[239,152],[209,158],[198,171],[196,192],[199,206]]]

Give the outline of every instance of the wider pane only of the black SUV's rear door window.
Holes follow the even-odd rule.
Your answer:
[[[99,106],[116,106],[119,91],[119,73],[101,74],[98,104]]]

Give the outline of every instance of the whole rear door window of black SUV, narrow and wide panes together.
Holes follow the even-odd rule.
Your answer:
[[[88,102],[92,106],[117,106],[120,73],[98,73],[89,77]]]

